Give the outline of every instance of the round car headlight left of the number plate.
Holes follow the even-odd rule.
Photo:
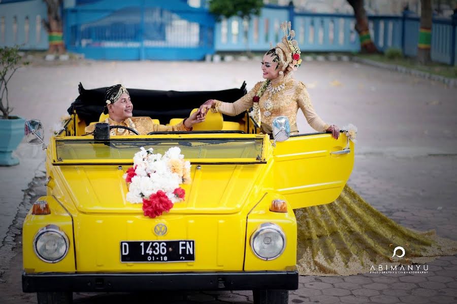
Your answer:
[[[48,263],[56,263],[64,258],[69,249],[68,237],[56,225],[40,229],[34,239],[37,256]]]

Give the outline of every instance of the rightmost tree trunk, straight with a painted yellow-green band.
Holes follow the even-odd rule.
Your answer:
[[[427,64],[431,61],[430,48],[432,44],[432,1],[420,1],[420,29],[417,45],[417,61]]]

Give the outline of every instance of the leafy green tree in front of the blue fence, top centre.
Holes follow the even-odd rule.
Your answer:
[[[209,11],[210,13],[216,15],[218,20],[221,17],[230,18],[238,16],[243,20],[249,22],[251,16],[260,16],[260,10],[264,6],[262,0],[210,0],[209,1]],[[248,28],[244,27],[244,36],[246,37],[246,50],[249,53],[247,33]]]

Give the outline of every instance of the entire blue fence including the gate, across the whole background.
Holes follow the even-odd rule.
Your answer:
[[[215,51],[265,51],[282,36],[279,25],[291,20],[304,52],[360,51],[352,15],[296,12],[293,6],[267,5],[259,17],[233,17],[215,22],[206,8],[186,0],[78,0],[64,11],[64,39],[70,51],[94,59],[202,59]],[[0,3],[0,46],[47,49],[42,0]],[[457,58],[457,16],[434,18],[433,61],[454,64]],[[416,56],[419,17],[369,16],[376,47],[399,48]]]

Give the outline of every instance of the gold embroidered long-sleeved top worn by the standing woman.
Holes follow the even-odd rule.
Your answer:
[[[234,103],[216,100],[212,110],[231,116],[238,115],[252,107],[252,97],[263,84],[264,82],[258,82],[252,90]],[[297,112],[299,108],[314,130],[324,132],[329,128],[329,125],[315,112],[305,85],[290,76],[280,76],[272,80],[265,93],[260,96],[258,104],[264,133],[272,132],[271,126],[276,117],[286,116],[289,119],[291,134],[298,134]]]

